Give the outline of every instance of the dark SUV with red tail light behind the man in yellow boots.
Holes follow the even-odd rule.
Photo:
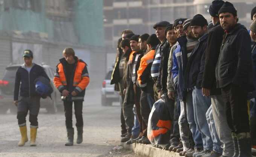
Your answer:
[[[57,88],[53,85],[53,76],[54,76],[55,70],[49,65],[44,63],[41,66],[44,68],[44,70],[46,71],[46,74],[49,76],[51,80],[53,93],[51,95],[52,99],[50,97],[47,97],[46,99],[41,99],[40,108],[46,108],[47,112],[49,113],[55,113],[58,111],[58,109],[60,111],[61,110],[64,111],[61,95],[57,90]],[[15,75],[18,67],[20,67],[19,64],[7,66],[5,69],[3,79],[0,80],[0,91],[1,91],[0,112],[2,114],[6,113],[8,109],[10,109],[11,113],[17,112],[17,107],[13,104],[13,94],[14,94]]]

